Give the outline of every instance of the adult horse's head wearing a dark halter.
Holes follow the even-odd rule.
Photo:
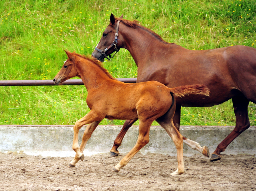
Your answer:
[[[123,18],[123,15],[120,16],[120,18]],[[110,24],[104,30],[100,42],[92,52],[92,56],[100,62],[103,62],[105,58],[108,58],[107,56],[115,51],[118,52],[121,48],[122,43],[120,42],[121,37],[118,35],[118,27],[119,22],[116,22],[115,16],[111,13]],[[111,59],[112,58],[110,57],[109,60]]]

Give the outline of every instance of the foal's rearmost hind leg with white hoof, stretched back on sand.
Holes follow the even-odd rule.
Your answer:
[[[162,121],[156,121],[166,130],[168,135],[172,138],[174,145],[177,149],[177,159],[178,159],[178,169],[171,173],[172,176],[181,175],[184,173],[184,161],[183,161],[183,136],[174,126],[172,120],[169,123],[164,123]]]

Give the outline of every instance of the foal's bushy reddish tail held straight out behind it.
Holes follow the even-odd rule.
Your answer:
[[[179,86],[176,88],[169,88],[170,92],[172,92],[177,97],[184,97],[188,94],[198,94],[204,96],[210,96],[210,90],[201,84],[194,84],[190,86]]]

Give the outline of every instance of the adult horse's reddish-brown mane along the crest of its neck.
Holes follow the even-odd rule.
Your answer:
[[[143,29],[143,30],[146,30],[147,32],[149,32],[150,34],[152,34],[154,37],[156,37],[158,40],[164,42],[165,44],[170,44],[170,43],[168,43],[168,42],[165,42],[165,41],[162,39],[162,37],[159,36],[158,34],[156,34],[154,31],[152,31],[152,30],[150,30],[149,28],[146,28],[146,27],[140,25],[140,22],[138,22],[137,20],[132,20],[132,21],[130,21],[130,20],[126,20],[126,19],[123,19],[123,18],[115,18],[115,24],[116,24],[119,20],[122,21],[122,23],[124,23],[124,24],[125,24],[126,26],[128,26],[128,27],[132,27],[132,28],[137,28],[137,27],[138,27],[138,28],[141,28],[141,29]],[[112,25],[111,22],[110,22],[110,25]],[[174,43],[171,43],[171,44],[174,44]]]

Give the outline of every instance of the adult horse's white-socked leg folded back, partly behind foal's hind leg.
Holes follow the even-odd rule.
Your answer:
[[[176,110],[173,116],[173,123],[176,129],[178,129],[178,131],[180,131],[180,108],[181,105],[176,105]],[[198,142],[187,139],[186,137],[183,137],[183,143],[185,143],[192,149],[199,151],[206,157],[210,157],[210,152],[207,146],[201,147],[201,145]]]

